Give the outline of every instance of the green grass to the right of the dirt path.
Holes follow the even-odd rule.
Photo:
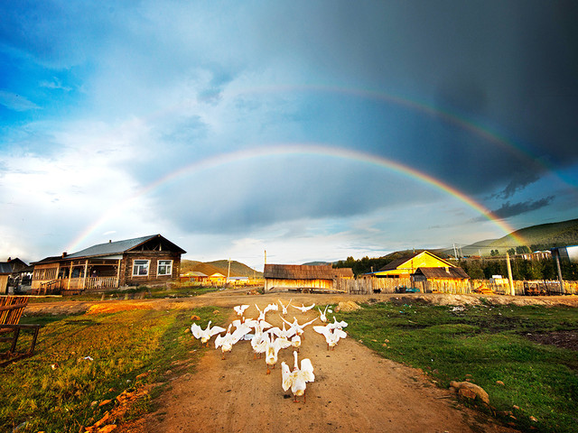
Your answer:
[[[577,309],[377,303],[338,318],[349,322],[350,336],[421,368],[441,387],[466,379],[480,385],[489,393],[490,411],[521,430],[578,431],[578,353],[526,338],[575,331]]]

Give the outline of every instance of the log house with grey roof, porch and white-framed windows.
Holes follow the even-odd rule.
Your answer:
[[[79,293],[177,279],[181,247],[162,235],[93,245],[32,263],[33,293]]]

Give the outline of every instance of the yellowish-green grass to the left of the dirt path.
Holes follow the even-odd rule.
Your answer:
[[[193,314],[201,325],[224,323],[214,310],[26,318],[42,328],[33,357],[0,369],[0,431],[27,423],[18,431],[77,432],[110,410],[121,392],[191,371],[205,349],[185,329]],[[147,375],[137,380],[141,373]],[[113,402],[98,407],[104,400]],[[151,399],[136,403],[129,417],[150,410],[150,404]]]

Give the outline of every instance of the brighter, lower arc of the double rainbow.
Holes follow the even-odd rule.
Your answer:
[[[248,161],[263,157],[286,157],[291,155],[310,155],[310,156],[322,156],[322,157],[332,157],[343,159],[347,161],[359,161],[362,163],[368,163],[374,166],[378,166],[383,169],[391,170],[399,175],[418,180],[425,185],[432,187],[433,189],[438,189],[443,191],[443,193],[456,198],[461,203],[465,204],[467,207],[471,207],[474,211],[479,213],[481,216],[487,218],[495,226],[498,226],[501,231],[506,235],[510,235],[517,244],[525,244],[524,240],[517,235],[513,235],[514,229],[508,224],[494,216],[488,208],[483,207],[479,202],[473,198],[465,195],[459,189],[455,189],[442,180],[433,178],[432,176],[415,170],[412,167],[408,167],[400,162],[388,160],[382,156],[371,154],[368,152],[353,151],[340,147],[332,147],[328,145],[323,145],[319,143],[284,143],[275,144],[266,147],[256,147],[246,150],[240,150],[238,152],[229,152],[223,154],[213,155],[204,160],[195,161],[191,164],[185,165],[178,170],[174,170],[162,178],[155,180],[154,182],[144,186],[139,189],[133,196],[126,198],[121,203],[114,204],[108,207],[108,210],[98,218],[93,224],[87,227],[80,235],[77,237],[70,245],[67,251],[76,251],[80,244],[92,235],[99,226],[102,226],[110,217],[117,215],[119,209],[129,206],[132,202],[138,198],[142,198],[147,194],[151,193],[155,189],[162,187],[173,181],[177,181],[181,178],[191,175],[202,170],[210,170],[217,167],[222,167],[224,165],[238,162],[238,161]]]

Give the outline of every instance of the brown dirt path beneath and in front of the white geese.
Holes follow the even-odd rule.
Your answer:
[[[286,302],[289,297],[261,297],[259,305],[265,307],[277,298]],[[309,299],[299,297],[298,302],[307,304]],[[288,318],[292,321],[296,317],[303,323],[317,317],[315,312],[303,314],[290,309]],[[247,310],[247,317],[256,317],[254,305]],[[275,313],[269,313],[267,320],[282,325]],[[293,349],[282,350],[279,364],[267,375],[265,360],[254,359],[248,341],[235,345],[225,360],[214,345],[210,347],[197,373],[174,380],[171,389],[163,393],[159,410],[142,420],[144,431],[515,431],[461,408],[450,392],[435,388],[423,374],[381,358],[351,338],[328,351],[324,337],[311,326],[305,329],[299,355],[300,359],[311,359],[315,373],[315,382],[307,386],[306,403],[303,399],[294,403],[291,393],[281,387],[280,364],[293,365]]]

